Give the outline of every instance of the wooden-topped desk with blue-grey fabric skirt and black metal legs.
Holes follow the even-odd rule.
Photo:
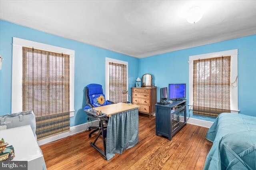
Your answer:
[[[115,153],[122,154],[123,150],[133,147],[135,144],[137,144],[139,128],[138,108],[139,106],[137,105],[127,105],[126,103],[116,103],[95,107],[94,110],[101,111],[102,113],[106,114],[103,115],[104,117],[98,117],[95,115],[95,113],[91,114],[90,112],[84,110],[87,114],[92,115],[99,120],[100,130],[94,142],[90,143],[90,146],[93,146],[107,160],[110,160],[115,155]],[[103,126],[103,120],[107,119],[107,117],[108,130]],[[120,119],[124,119],[124,121],[120,121]],[[122,129],[112,127],[121,127]],[[95,144],[100,135],[102,136],[104,150],[101,150]]]

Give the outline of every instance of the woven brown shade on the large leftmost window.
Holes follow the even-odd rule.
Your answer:
[[[69,55],[28,47],[22,51],[22,111],[34,111],[37,138],[69,130]]]

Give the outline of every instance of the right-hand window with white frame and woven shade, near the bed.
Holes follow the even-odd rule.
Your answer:
[[[237,50],[190,56],[189,63],[193,114],[238,113]]]

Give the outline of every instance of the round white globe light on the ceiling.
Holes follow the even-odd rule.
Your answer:
[[[193,6],[188,10],[187,21],[191,24],[195,24],[200,21],[203,16],[200,6]]]

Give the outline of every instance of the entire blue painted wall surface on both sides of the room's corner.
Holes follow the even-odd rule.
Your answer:
[[[0,115],[11,112],[12,37],[75,50],[75,117],[70,119],[71,126],[86,122],[83,111],[84,87],[90,83],[99,83],[105,89],[105,57],[128,61],[130,94],[130,87],[134,87],[136,77],[150,73],[153,83],[158,86],[158,100],[159,88],[167,87],[169,83],[186,83],[188,99],[189,56],[230,49],[238,49],[238,109],[242,114],[256,116],[256,35],[137,59],[3,20],[0,20],[0,55],[4,58],[0,70]],[[214,121],[211,117],[192,117]]]

